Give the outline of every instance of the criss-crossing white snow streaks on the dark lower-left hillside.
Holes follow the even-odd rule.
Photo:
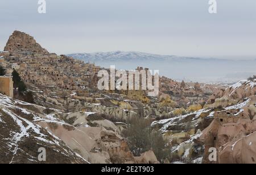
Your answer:
[[[24,106],[24,108],[20,107],[20,105]],[[3,114],[4,114],[5,117],[8,116],[10,120],[13,120],[14,127],[15,127],[14,130],[11,130],[8,133],[9,136],[5,139],[9,152],[12,153],[11,154],[12,157],[10,157],[11,158],[10,163],[14,163],[15,157],[19,154],[20,151],[24,152],[22,150],[22,143],[23,141],[26,141],[26,138],[32,138],[34,140],[37,140],[37,142],[40,144],[42,144],[43,142],[46,145],[49,145],[49,144],[54,146],[57,145],[58,147],[61,147],[61,149],[59,150],[56,149],[58,150],[57,152],[61,153],[61,155],[65,155],[67,157],[76,155],[76,157],[80,157],[82,159],[80,155],[71,151],[72,149],[70,148],[69,148],[70,150],[65,149],[65,148],[68,148],[68,146],[63,144],[63,142],[59,138],[51,134],[51,132],[44,130],[38,124],[36,124],[36,122],[39,122],[39,121],[56,122],[61,124],[67,124],[67,123],[59,121],[60,119],[55,118],[53,114],[46,115],[40,112],[36,113],[35,111],[31,110],[31,107],[35,107],[36,109],[39,109],[39,110],[47,109],[46,107],[18,101],[0,94],[0,109],[1,109],[0,122],[5,123],[5,121],[3,120]],[[19,113],[16,113],[16,109],[19,110],[17,112],[19,113],[21,112],[22,114],[19,115]],[[55,111],[55,113],[60,113],[59,110],[55,110],[55,109],[52,109],[52,110]],[[32,116],[32,119],[31,119],[32,121],[23,117],[23,116],[26,117],[27,115]],[[29,156],[27,158],[28,160],[35,161],[35,157],[32,157],[27,153],[26,155]],[[86,161],[86,163],[88,163],[88,161]]]

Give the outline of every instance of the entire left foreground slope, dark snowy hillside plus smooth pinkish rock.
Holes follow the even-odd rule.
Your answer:
[[[99,118],[0,94],[0,163],[158,163],[152,151],[134,157],[126,141],[112,131],[114,123]],[[89,126],[97,122],[102,127]],[[46,161],[39,161],[39,148],[46,149]]]

